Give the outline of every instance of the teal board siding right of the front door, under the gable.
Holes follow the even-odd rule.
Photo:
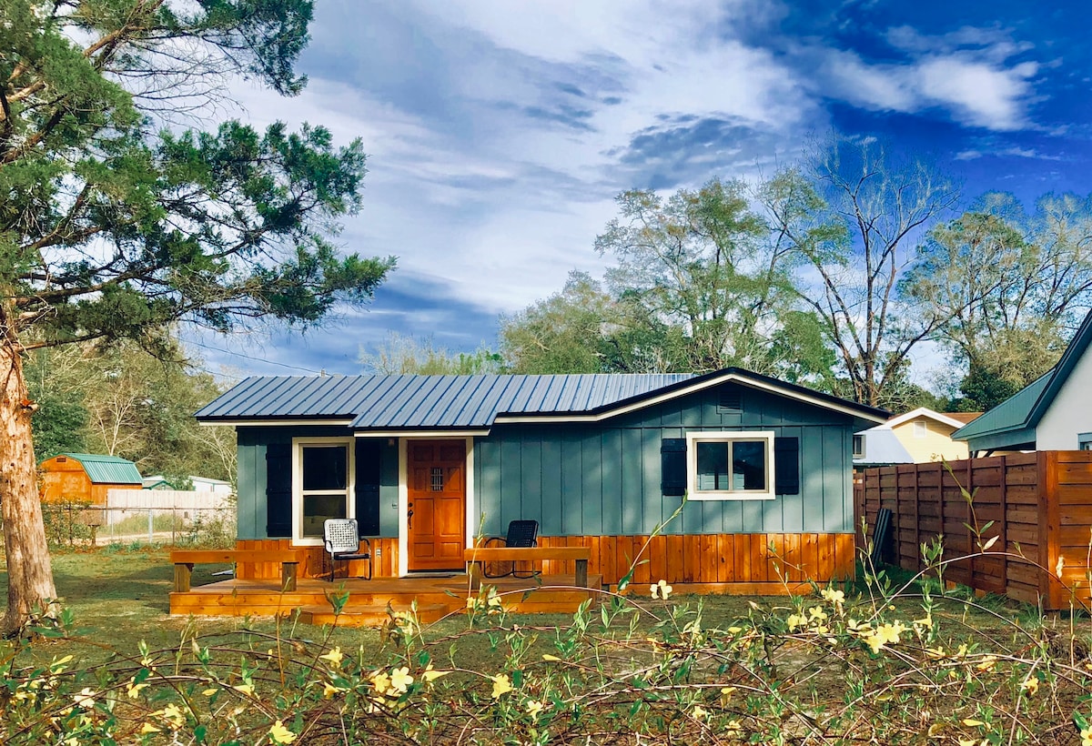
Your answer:
[[[711,390],[595,424],[494,426],[474,443],[485,533],[534,519],[546,536],[649,534],[680,504],[661,490],[661,442],[696,430],[799,438],[799,494],[691,500],[665,533],[852,533],[852,418],[751,389],[741,401],[722,410]]]

